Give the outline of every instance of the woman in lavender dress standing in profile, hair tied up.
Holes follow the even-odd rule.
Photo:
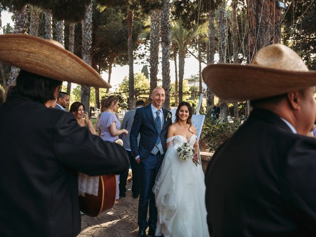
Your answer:
[[[120,134],[128,134],[126,129],[119,129],[120,123],[118,121],[115,112],[118,110],[118,97],[110,95],[104,101],[104,112],[102,113],[98,126],[101,131],[101,138],[104,141],[115,142]],[[116,175],[117,179],[117,193],[116,193],[116,203],[119,199],[119,175]]]

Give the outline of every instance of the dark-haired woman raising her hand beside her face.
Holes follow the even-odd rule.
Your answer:
[[[88,112],[84,113],[84,105],[81,102],[76,101],[72,103],[69,112],[73,113],[81,127],[86,126],[91,132],[91,134],[96,134],[92,122],[89,119]]]

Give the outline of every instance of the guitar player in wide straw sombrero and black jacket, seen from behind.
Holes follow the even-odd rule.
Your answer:
[[[78,236],[78,172],[118,174],[129,166],[121,146],[92,135],[72,114],[48,108],[62,81],[110,86],[59,45],[25,34],[0,35],[0,62],[21,69],[0,106],[1,237]]]

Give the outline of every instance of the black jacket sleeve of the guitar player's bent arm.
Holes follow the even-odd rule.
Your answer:
[[[62,164],[91,176],[119,174],[129,167],[123,147],[92,135],[69,113],[63,113],[54,127],[53,149]]]

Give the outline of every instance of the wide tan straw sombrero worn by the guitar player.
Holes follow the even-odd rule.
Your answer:
[[[51,79],[111,87],[93,68],[58,44],[24,34],[0,35],[0,62]]]

